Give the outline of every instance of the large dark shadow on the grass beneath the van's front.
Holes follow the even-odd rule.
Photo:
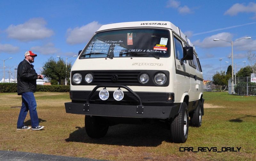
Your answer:
[[[156,124],[127,125],[119,124],[108,128],[108,133],[100,139],[90,138],[85,127],[76,127],[77,130],[69,134],[67,142],[84,142],[93,144],[146,146],[157,147],[163,141],[170,141],[170,130],[159,127]]]

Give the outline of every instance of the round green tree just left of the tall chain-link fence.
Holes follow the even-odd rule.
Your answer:
[[[222,86],[224,86],[226,89],[228,86],[228,79],[230,78],[229,76],[229,74],[225,74],[225,71],[221,71],[221,73],[216,72],[216,74],[212,76],[212,83],[215,85],[220,85],[220,91],[222,89]]]

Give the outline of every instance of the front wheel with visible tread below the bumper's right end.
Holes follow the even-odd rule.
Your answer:
[[[184,143],[188,139],[188,106],[181,104],[180,113],[171,120],[171,142]]]

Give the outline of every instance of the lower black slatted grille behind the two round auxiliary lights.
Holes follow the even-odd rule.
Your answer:
[[[108,101],[115,101],[113,98],[114,91],[109,91]],[[90,91],[72,91],[71,99],[72,100],[80,100],[86,101]],[[142,103],[165,103],[167,102],[167,94],[162,92],[136,92],[136,94],[140,97]],[[90,101],[101,101],[99,97],[99,91],[96,91],[92,94]],[[138,102],[138,99],[133,96],[130,92],[124,91],[124,99],[122,101],[125,102]]]

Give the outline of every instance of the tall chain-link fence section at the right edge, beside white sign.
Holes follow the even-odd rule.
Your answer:
[[[256,82],[251,77],[236,77],[232,86],[232,78],[228,80],[228,93],[233,95],[256,96]]]

